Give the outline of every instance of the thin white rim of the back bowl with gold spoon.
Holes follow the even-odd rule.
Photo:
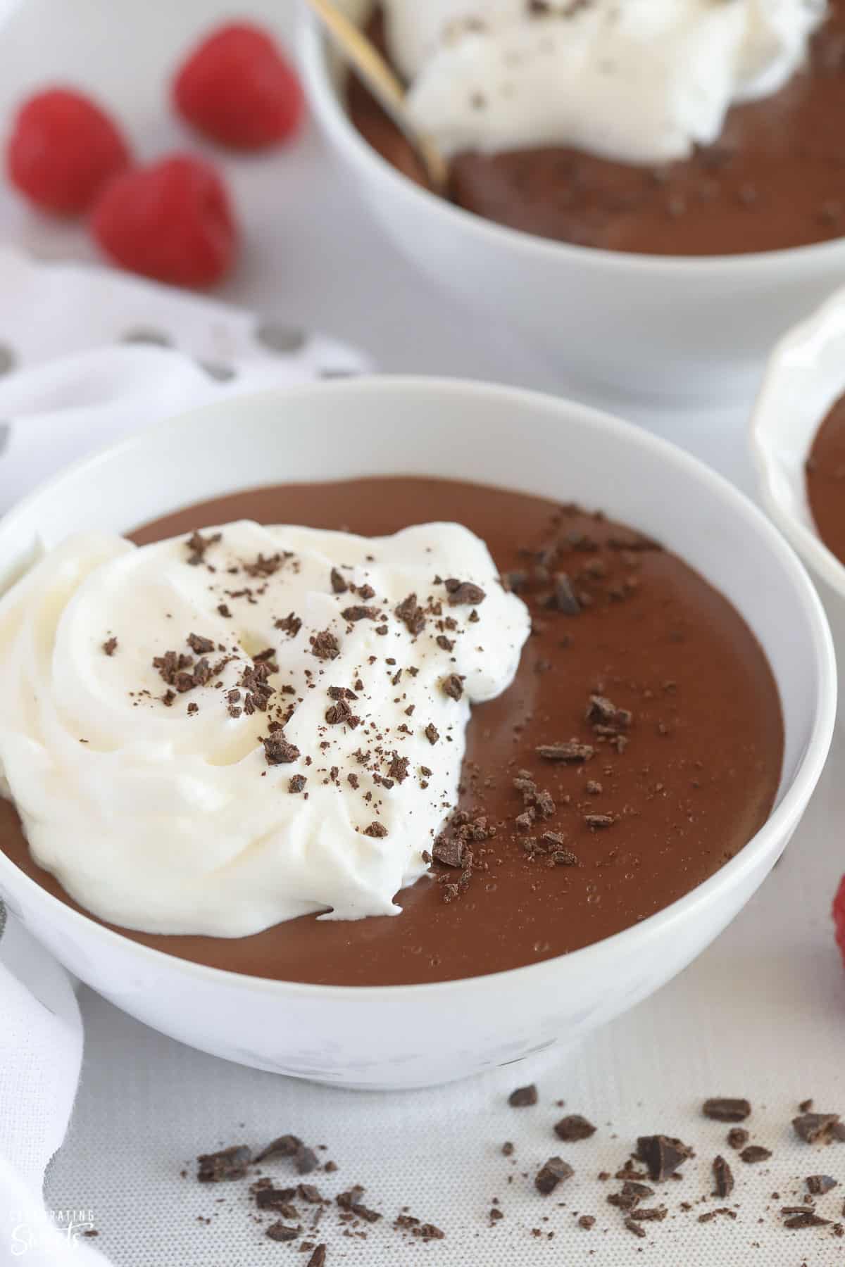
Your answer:
[[[736,255],[644,255],[633,251],[609,251],[603,247],[578,246],[573,242],[557,242],[543,238],[524,229],[511,228],[495,220],[485,219],[475,212],[465,210],[447,201],[431,190],[417,185],[389,163],[369,144],[352,124],[328,72],[326,51],[328,42],[323,35],[318,18],[308,9],[304,0],[299,5],[299,30],[296,37],[299,61],[304,68],[304,81],[314,114],[321,119],[324,131],[334,138],[338,147],[347,151],[357,166],[394,193],[417,200],[427,207],[445,224],[464,232],[474,232],[485,238],[492,248],[521,250],[532,255],[538,264],[554,266],[555,260],[578,261],[595,271],[630,269],[649,276],[663,275],[671,280],[701,281],[704,272],[722,274],[725,280],[736,281],[740,274],[749,279],[761,277],[773,267],[801,272],[804,265],[816,269],[832,266],[845,255],[845,236],[826,242],[811,242],[804,246],[782,247],[777,251],[747,251]]]

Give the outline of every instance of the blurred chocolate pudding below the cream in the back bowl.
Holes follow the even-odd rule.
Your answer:
[[[369,33],[385,49],[381,14]],[[479,103],[481,108],[481,103]],[[424,182],[413,150],[355,79],[356,128],[399,171]],[[642,255],[712,256],[826,242],[845,234],[845,0],[831,0],[806,68],[779,92],[732,106],[718,142],[661,167],[561,147],[459,153],[451,199],[526,233]]]

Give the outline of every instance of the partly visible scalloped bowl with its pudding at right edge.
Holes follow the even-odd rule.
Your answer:
[[[760,498],[807,564],[845,658],[845,290],[774,348],[750,428]]]

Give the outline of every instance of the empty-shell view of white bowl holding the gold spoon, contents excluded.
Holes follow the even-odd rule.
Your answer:
[[[424,3],[424,0],[421,0]],[[355,20],[371,0],[338,0]],[[639,395],[713,399],[756,388],[773,342],[845,275],[845,238],[684,258],[546,241],[452,207],[400,175],[350,122],[343,72],[303,4],[314,114],[384,233],[445,293],[509,319],[570,379]]]

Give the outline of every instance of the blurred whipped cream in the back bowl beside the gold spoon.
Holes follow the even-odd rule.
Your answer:
[[[826,0],[384,0],[416,124],[447,155],[573,146],[632,163],[712,144],[802,66]]]

